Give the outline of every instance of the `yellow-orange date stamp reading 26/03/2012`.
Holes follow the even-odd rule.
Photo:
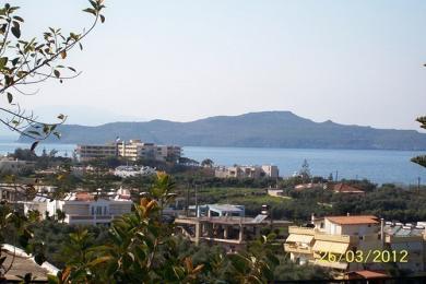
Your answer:
[[[406,250],[347,250],[345,253],[336,255],[330,251],[320,251],[320,261],[326,262],[357,262],[357,263],[388,263],[409,262],[409,251]]]

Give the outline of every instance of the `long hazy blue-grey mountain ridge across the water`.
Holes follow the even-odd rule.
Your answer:
[[[141,139],[184,146],[247,146],[305,149],[426,150],[426,133],[414,130],[375,129],[332,122],[315,122],[291,111],[217,116],[191,122],[152,120],[113,122],[97,127],[63,125],[61,140],[51,143],[110,142]],[[20,142],[26,141],[24,137]]]

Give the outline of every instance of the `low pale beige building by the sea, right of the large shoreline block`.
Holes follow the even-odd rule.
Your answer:
[[[214,176],[218,178],[277,178],[279,168],[272,165],[216,167]]]

